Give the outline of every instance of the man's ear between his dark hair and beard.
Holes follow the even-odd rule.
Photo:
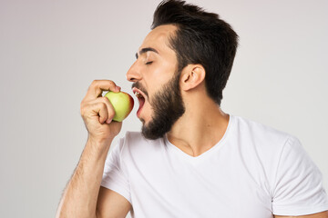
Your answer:
[[[205,69],[200,64],[189,64],[183,68],[180,75],[180,87],[188,91],[197,87],[205,79]]]

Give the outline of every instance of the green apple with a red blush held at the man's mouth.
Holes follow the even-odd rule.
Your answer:
[[[127,93],[114,93],[109,91],[105,94],[105,97],[108,98],[110,104],[114,107],[115,116],[113,121],[122,122],[133,109],[134,100],[131,95]]]

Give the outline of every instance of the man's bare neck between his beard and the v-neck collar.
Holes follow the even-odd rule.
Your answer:
[[[229,124],[229,114],[224,114],[207,95],[205,98],[193,96],[185,101],[185,107],[185,114],[172,126],[167,137],[184,153],[198,156],[220,142]]]

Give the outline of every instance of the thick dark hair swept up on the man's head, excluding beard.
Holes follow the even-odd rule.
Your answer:
[[[179,72],[188,64],[201,64],[210,98],[220,105],[238,46],[238,35],[219,15],[207,13],[185,1],[162,1],[154,13],[151,29],[176,25],[169,44],[176,52]]]

